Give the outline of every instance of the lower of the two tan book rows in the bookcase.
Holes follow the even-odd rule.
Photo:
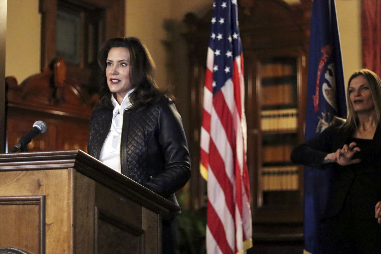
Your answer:
[[[298,190],[298,166],[263,167],[261,171],[261,189],[266,190]]]

